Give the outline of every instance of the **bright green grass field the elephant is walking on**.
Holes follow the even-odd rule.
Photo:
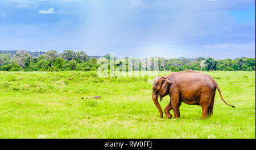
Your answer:
[[[255,138],[255,72],[206,73],[236,108],[216,93],[212,118],[201,120],[201,107],[185,103],[180,119],[160,118],[147,78],[0,72],[0,138]]]

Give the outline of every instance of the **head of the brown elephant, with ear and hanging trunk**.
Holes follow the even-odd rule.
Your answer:
[[[166,77],[156,77],[154,79],[152,99],[155,103],[155,106],[158,107],[161,118],[163,118],[163,111],[158,102],[158,95],[160,97],[160,101],[162,101],[162,98],[169,94],[169,88],[171,85],[172,81]]]

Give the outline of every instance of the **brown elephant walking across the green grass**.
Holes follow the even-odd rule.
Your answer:
[[[184,102],[189,105],[200,105],[202,107],[201,119],[205,119],[213,113],[216,89],[220,93],[222,101],[224,101],[220,88],[211,76],[206,73],[187,70],[171,73],[164,77],[156,77],[153,85],[152,99],[156,107],[158,107],[161,118],[163,118],[163,111],[158,102],[158,95],[160,96],[160,101],[162,101],[162,98],[169,94],[171,100],[164,109],[167,118],[172,117],[169,112],[170,110],[174,110],[175,118],[180,118],[179,107],[181,102]],[[229,104],[226,103],[226,105]]]

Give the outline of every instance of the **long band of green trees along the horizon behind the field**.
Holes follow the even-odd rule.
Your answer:
[[[63,71],[63,70],[97,70],[99,64],[97,59],[100,56],[88,56],[85,52],[57,51],[34,52],[38,57],[30,55],[24,49],[15,51],[15,53],[6,51],[0,53],[0,70],[3,71]],[[110,55],[105,55],[105,59],[110,59]],[[115,57],[117,59],[117,57]],[[157,57],[159,70],[171,70],[178,72],[182,70],[255,70],[255,59],[237,58],[225,60],[213,60],[212,58],[198,57],[196,59],[187,59],[181,57],[179,59],[166,59]],[[128,60],[128,57],[125,58]],[[137,59],[134,59],[135,62]],[[154,60],[154,58],[152,59]],[[121,64],[115,64],[115,68]],[[133,66],[134,67],[134,66]],[[139,69],[141,64],[139,64]]]

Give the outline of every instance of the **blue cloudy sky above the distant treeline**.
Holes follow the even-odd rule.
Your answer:
[[[0,49],[255,58],[255,1],[1,0]]]

